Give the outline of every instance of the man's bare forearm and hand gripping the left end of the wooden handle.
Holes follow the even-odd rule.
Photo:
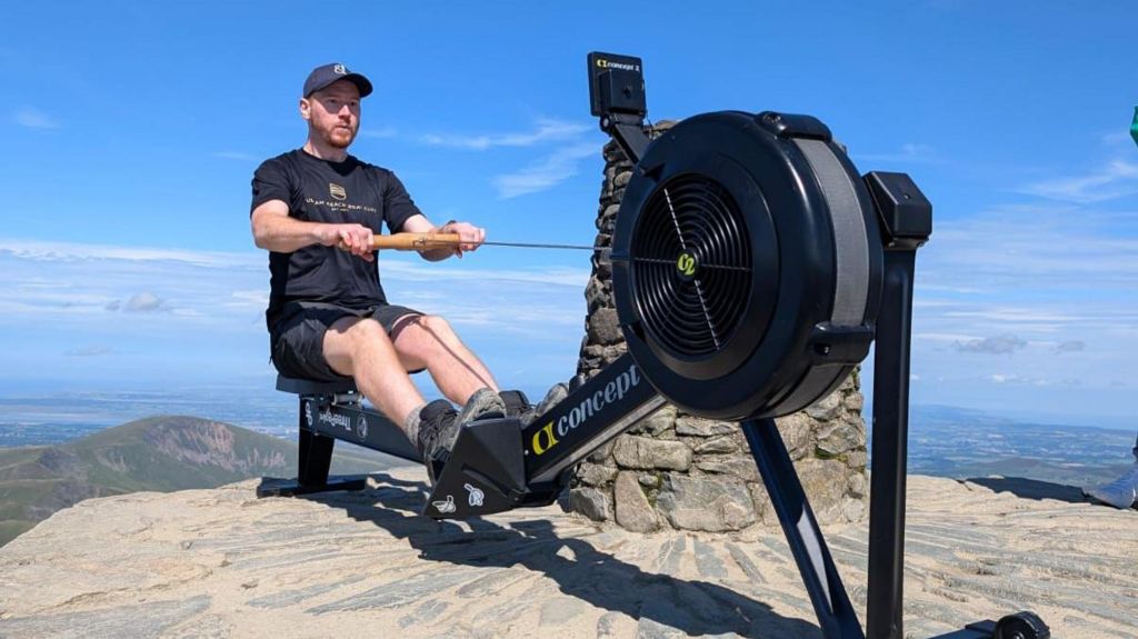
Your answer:
[[[257,248],[292,252],[312,244],[343,244],[353,255],[368,262],[374,259],[371,229],[362,224],[325,224],[296,219],[289,217],[288,205],[282,200],[269,200],[253,209],[250,224],[253,242]]]

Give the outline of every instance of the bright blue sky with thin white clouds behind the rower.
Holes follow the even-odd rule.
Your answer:
[[[1138,426],[1132,9],[6,7],[0,396],[271,385],[249,180],[303,144],[297,100],[321,64],[373,81],[352,152],[395,171],[429,218],[591,244],[607,138],[585,57],[600,50],[643,59],[653,121],[809,114],[863,173],[912,175],[934,207],[917,257],[915,404]],[[486,247],[380,265],[393,301],[448,317],[502,385],[535,391],[575,371],[587,254]]]

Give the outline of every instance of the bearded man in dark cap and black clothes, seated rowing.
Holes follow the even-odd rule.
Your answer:
[[[465,222],[436,226],[391,172],[348,155],[360,130],[360,100],[371,82],[341,64],[316,67],[304,83],[304,147],[266,160],[253,177],[250,221],[269,249],[269,324],[273,364],[286,376],[354,377],[379,410],[402,424],[424,462],[450,450],[461,424],[525,406],[498,393],[486,366],[442,317],[390,305],[379,282],[372,236],[456,233],[455,248],[420,251],[428,260],[476,250],[486,233]],[[426,370],[450,400],[430,404],[409,372]],[[431,465],[428,463],[428,467]]]

